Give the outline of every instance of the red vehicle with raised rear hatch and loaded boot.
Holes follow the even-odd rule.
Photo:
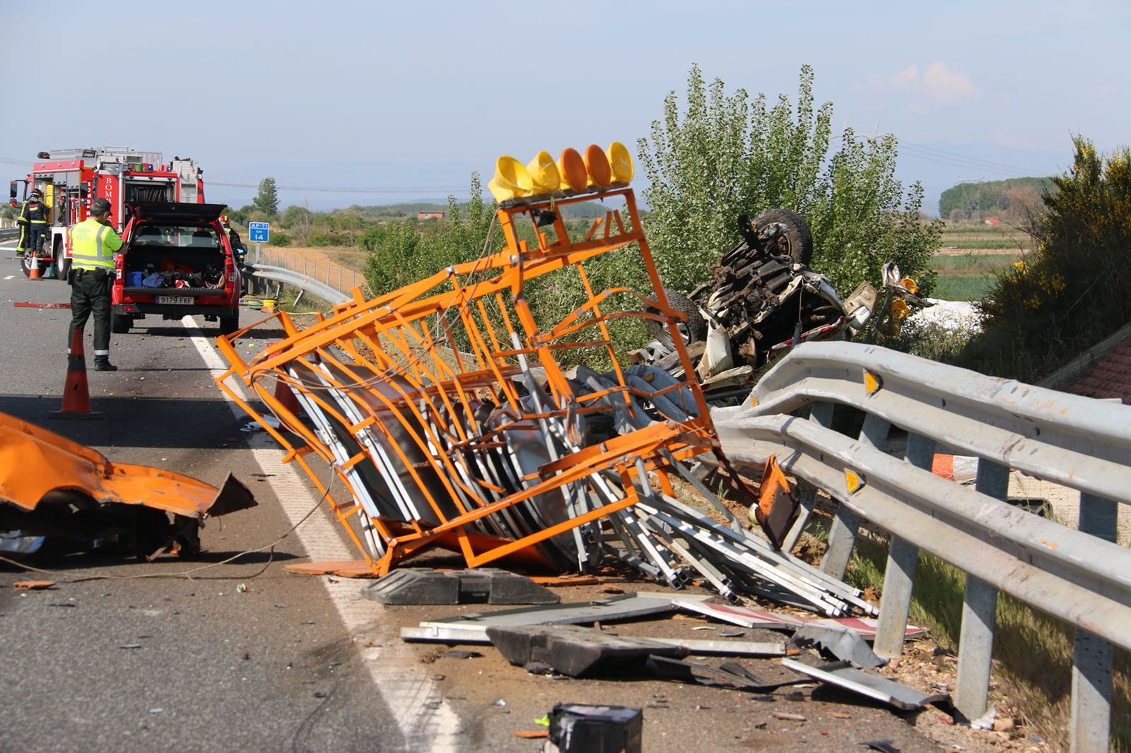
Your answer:
[[[154,202],[129,206],[116,254],[111,329],[138,319],[202,315],[230,335],[240,328],[240,268],[219,223],[224,205]]]

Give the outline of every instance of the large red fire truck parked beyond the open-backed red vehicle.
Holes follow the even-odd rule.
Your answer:
[[[44,275],[53,262],[60,279],[70,266],[70,226],[86,219],[94,199],[110,201],[110,219],[121,233],[129,222],[128,205],[153,201],[204,204],[204,171],[192,159],[126,147],[53,149],[36,155],[40,162],[21,180],[11,182],[8,204],[19,207],[33,189],[43,191],[51,224],[43,249],[25,251],[25,275],[37,265]]]

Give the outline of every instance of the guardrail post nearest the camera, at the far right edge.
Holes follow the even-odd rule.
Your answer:
[[[1080,494],[1079,529],[1115,543],[1119,505]],[[1107,751],[1112,725],[1112,644],[1086,630],[1076,630],[1072,647],[1072,751]]]

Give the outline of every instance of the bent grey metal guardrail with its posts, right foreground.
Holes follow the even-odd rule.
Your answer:
[[[832,431],[832,405],[865,413],[857,439]],[[809,418],[796,415],[809,406]],[[713,412],[727,457],[769,456],[840,504],[821,568],[843,575],[862,518],[891,534],[878,654],[901,652],[920,549],[967,573],[955,706],[987,704],[999,590],[1076,629],[1074,751],[1106,751],[1113,644],[1131,650],[1131,551],[1115,544],[1131,504],[1131,407],[995,379],[886,348],[806,343],[775,365],[745,406]],[[904,460],[883,452],[909,433]],[[974,488],[931,473],[936,445],[979,459]],[[948,451],[950,451],[948,449]],[[1009,470],[1080,492],[1079,529],[1015,508]],[[787,538],[796,540],[813,505]]]

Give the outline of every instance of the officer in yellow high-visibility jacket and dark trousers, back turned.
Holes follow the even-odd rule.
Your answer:
[[[110,288],[114,282],[114,251],[122,248],[110,224],[110,202],[95,199],[90,216],[71,227],[71,326],[67,343],[76,329],[86,327],[94,313],[94,367],[118,371],[110,363]]]

